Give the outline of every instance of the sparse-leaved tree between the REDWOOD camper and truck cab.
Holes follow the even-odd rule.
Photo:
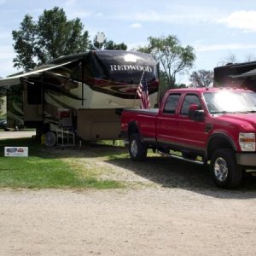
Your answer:
[[[174,35],[161,38],[148,38],[149,44],[137,51],[151,53],[160,62],[161,78],[168,84],[168,89],[175,87],[177,73],[185,73],[195,61],[195,53],[192,46],[181,46]]]

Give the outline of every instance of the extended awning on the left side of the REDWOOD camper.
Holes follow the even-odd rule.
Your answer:
[[[53,69],[55,69],[57,67],[65,66],[65,65],[67,65],[67,64],[69,64],[69,63],[71,63],[73,61],[67,61],[67,62],[61,63],[59,65],[46,64],[46,65],[43,65],[42,67],[38,67],[37,69],[34,69],[31,72],[19,73],[17,75],[10,76],[10,77],[5,78],[5,79],[0,79],[0,86],[8,86],[8,85],[20,84],[20,79],[21,78],[35,77],[35,76],[41,75],[42,73],[44,73],[46,71],[53,70]],[[75,61],[78,61],[78,60],[75,60]]]

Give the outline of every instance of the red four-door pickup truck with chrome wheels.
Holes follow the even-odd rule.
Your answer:
[[[256,93],[202,88],[168,90],[159,109],[125,109],[121,134],[131,160],[145,160],[148,148],[206,164],[222,188],[240,185],[256,169]]]

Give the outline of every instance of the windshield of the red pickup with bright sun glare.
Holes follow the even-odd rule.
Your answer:
[[[203,94],[208,111],[214,113],[256,112],[256,93],[252,91],[218,91]]]

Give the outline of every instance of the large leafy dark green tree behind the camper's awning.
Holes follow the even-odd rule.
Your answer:
[[[26,71],[38,64],[60,57],[86,51],[89,34],[79,18],[67,20],[63,9],[44,10],[38,21],[25,15],[20,30],[13,31],[15,41],[14,66]]]

